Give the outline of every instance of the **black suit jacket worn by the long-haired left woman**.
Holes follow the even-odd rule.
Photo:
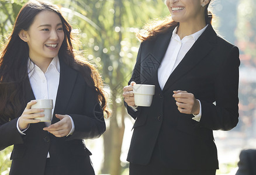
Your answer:
[[[26,101],[33,100],[29,81],[26,92]],[[55,114],[72,117],[75,125],[72,135],[57,138],[43,131],[44,122],[30,124],[26,135],[21,135],[16,128],[18,118],[0,125],[0,150],[14,145],[10,175],[43,175],[47,152],[50,152],[54,166],[63,166],[58,174],[94,174],[89,160],[91,152],[82,139],[97,138],[103,134],[106,129],[103,111],[95,90],[87,85],[79,72],[64,64],[61,58],[60,83],[52,124],[59,121]]]

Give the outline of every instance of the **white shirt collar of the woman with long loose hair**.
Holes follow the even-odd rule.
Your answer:
[[[50,67],[53,67],[55,68],[58,73],[60,74],[60,60],[58,59],[58,55],[56,57],[53,58],[53,60],[51,60],[51,63],[49,65],[49,67],[47,68],[47,71]],[[27,74],[29,75],[29,78],[30,76],[33,75],[33,72],[34,72],[34,69],[35,68],[38,68],[40,69],[39,67],[37,67],[37,65],[34,64],[34,62],[32,60],[29,60],[27,61]],[[46,72],[47,72],[46,71]]]

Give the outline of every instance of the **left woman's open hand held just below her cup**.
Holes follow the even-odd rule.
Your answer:
[[[44,131],[48,131],[51,134],[62,137],[70,134],[72,129],[72,122],[68,115],[55,114],[60,121],[50,125],[49,127],[43,128]]]

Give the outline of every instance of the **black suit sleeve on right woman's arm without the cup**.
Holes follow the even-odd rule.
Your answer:
[[[238,79],[240,65],[239,51],[233,47],[226,61],[220,65],[215,80],[216,105],[201,101],[202,117],[200,125],[212,130],[230,130],[238,122]]]

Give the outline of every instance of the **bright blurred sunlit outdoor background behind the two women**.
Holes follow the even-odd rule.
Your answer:
[[[5,43],[19,9],[27,1],[0,0],[0,42]],[[112,117],[101,138],[85,141],[97,174],[127,175],[126,155],[133,120],[123,106],[123,86],[130,79],[139,48],[135,34],[144,24],[169,15],[163,0],[53,0],[81,41],[77,50],[101,71]],[[220,169],[235,174],[242,149],[256,148],[256,5],[255,0],[215,0],[213,26],[240,48],[240,120],[231,131],[215,131]],[[1,140],[0,140],[1,142]],[[0,152],[0,174],[9,173],[12,148]]]

